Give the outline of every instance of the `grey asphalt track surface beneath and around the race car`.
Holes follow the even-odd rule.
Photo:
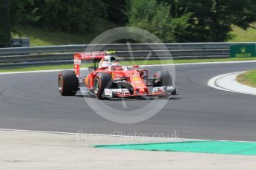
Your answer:
[[[151,67],[155,72],[157,67]],[[114,123],[97,115],[81,96],[62,97],[58,72],[0,75],[0,129],[115,135],[176,133],[177,137],[256,141],[256,97],[207,86],[210,78],[256,69],[255,63],[198,64],[176,67],[179,96],[154,117],[133,124]],[[95,99],[97,100],[97,99]],[[121,101],[105,101],[119,108]],[[128,108],[146,100],[127,100]]]

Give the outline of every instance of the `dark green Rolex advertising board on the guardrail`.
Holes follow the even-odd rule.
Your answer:
[[[256,44],[232,45],[230,55],[232,58],[256,57]]]

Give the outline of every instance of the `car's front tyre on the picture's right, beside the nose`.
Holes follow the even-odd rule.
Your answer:
[[[172,86],[172,79],[169,72],[161,70],[154,73],[153,86]]]

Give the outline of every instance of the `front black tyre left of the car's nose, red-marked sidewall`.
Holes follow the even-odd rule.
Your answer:
[[[105,72],[99,72],[93,81],[93,93],[96,98],[104,98],[104,89],[112,89],[113,81],[111,75]]]

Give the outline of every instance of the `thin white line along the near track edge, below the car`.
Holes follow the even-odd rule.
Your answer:
[[[35,132],[35,133],[50,133],[59,135],[93,135],[93,136],[109,136],[109,137],[133,137],[142,139],[165,139],[165,140],[198,140],[198,141],[209,141],[212,139],[191,139],[191,138],[172,138],[172,137],[147,137],[147,136],[128,136],[128,135],[104,135],[104,134],[93,134],[93,133],[72,133],[72,132],[50,132],[50,131],[33,131],[33,130],[22,130],[22,129],[0,129],[0,131],[15,131],[15,132]],[[255,141],[241,141],[241,140],[215,140],[221,142],[249,142],[256,143]]]

